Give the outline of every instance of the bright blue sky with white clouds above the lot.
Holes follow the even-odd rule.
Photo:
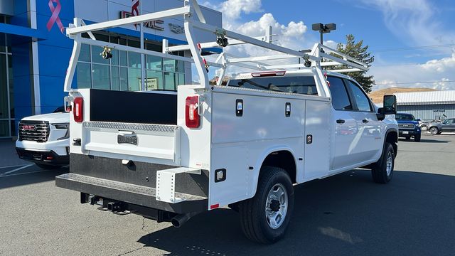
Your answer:
[[[260,36],[274,27],[277,42],[309,48],[319,41],[312,23],[336,23],[326,34],[328,45],[343,43],[352,33],[375,55],[369,71],[383,87],[430,87],[455,90],[455,1],[450,0],[200,0],[223,12],[224,26]],[[257,35],[255,35],[257,33]],[[237,53],[242,53],[242,49]],[[246,55],[260,53],[244,48]]]

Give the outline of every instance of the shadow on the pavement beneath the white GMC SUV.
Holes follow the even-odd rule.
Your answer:
[[[29,169],[24,169],[23,172],[19,172],[17,175],[0,176],[0,189],[45,181],[54,181],[55,176],[66,174],[68,172],[68,167],[62,167],[55,170],[43,170],[38,166],[31,166]]]

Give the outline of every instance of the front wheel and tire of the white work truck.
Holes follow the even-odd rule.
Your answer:
[[[388,183],[392,180],[394,166],[395,150],[393,149],[392,144],[386,142],[381,158],[373,165],[373,169],[371,169],[373,181],[382,184]]]

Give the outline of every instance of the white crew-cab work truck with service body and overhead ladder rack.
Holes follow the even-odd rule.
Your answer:
[[[358,167],[373,180],[392,178],[397,154],[394,96],[376,109],[344,72],[367,65],[316,44],[300,52],[215,28],[198,4],[85,26],[75,18],[67,34],[75,41],[65,98],[70,117],[70,173],[57,186],[80,191],[81,203],[113,213],[136,213],[179,227],[193,215],[230,206],[240,213],[252,240],[276,242],[284,236],[294,208],[293,185]],[[162,53],[97,41],[92,31],[181,16],[188,45]],[[213,43],[198,43],[193,30],[210,31]],[[83,38],[81,33],[89,33]],[[200,84],[176,93],[71,89],[82,43],[193,62]],[[205,60],[201,49],[242,43],[277,55],[235,58],[221,53]],[[190,50],[192,58],[171,53]],[[332,53],[332,54],[330,54]],[[269,60],[301,58],[302,64],[270,65]],[[326,60],[326,61],[322,61]],[[227,85],[210,85],[208,66],[225,76],[231,65],[252,72],[232,75]],[[342,69],[328,72],[324,67]],[[153,111],[151,111],[153,110]]]

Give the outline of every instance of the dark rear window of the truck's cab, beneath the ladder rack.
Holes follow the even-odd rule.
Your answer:
[[[267,77],[230,80],[228,86],[274,92],[290,92],[303,95],[318,95],[312,76]]]

